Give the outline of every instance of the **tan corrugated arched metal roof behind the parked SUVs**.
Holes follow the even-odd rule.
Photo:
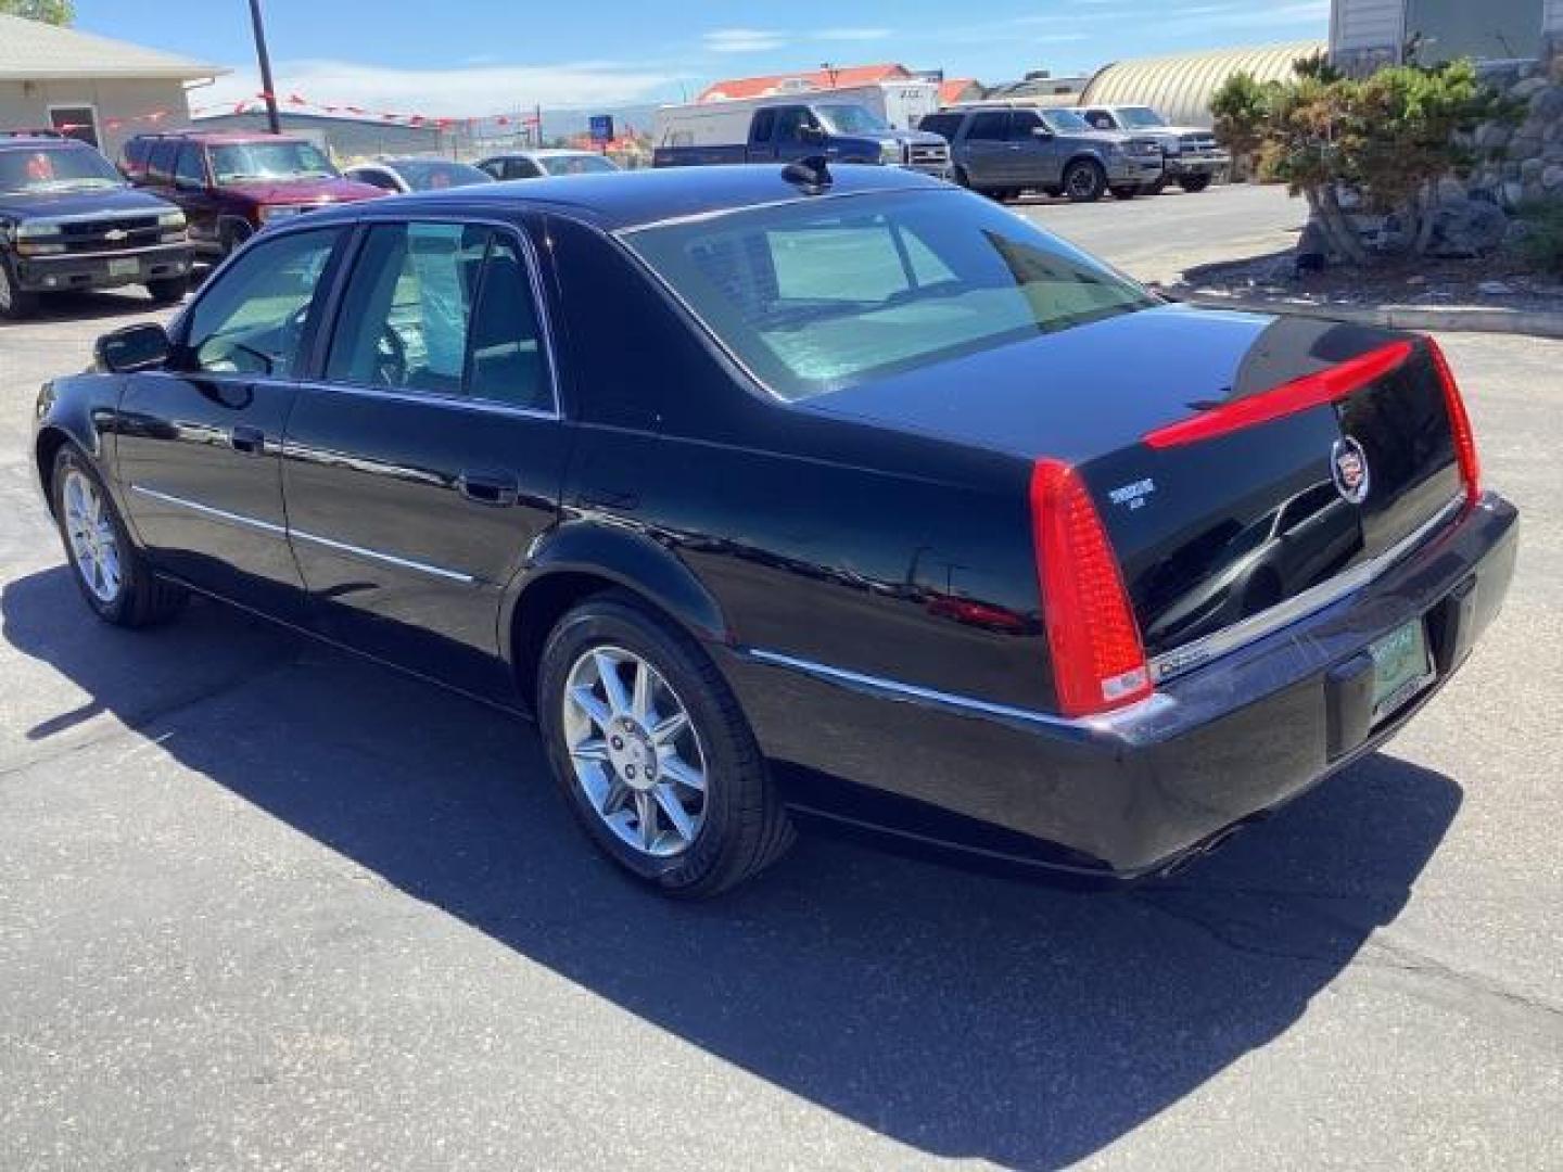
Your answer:
[[[1208,127],[1214,122],[1210,98],[1233,73],[1285,81],[1297,58],[1327,48],[1322,41],[1293,41],[1260,48],[1213,48],[1114,61],[1097,70],[1078,105],[1155,106],[1174,125]]]

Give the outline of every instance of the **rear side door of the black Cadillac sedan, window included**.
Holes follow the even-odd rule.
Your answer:
[[[514,228],[364,228],[283,456],[322,633],[494,697],[500,602],[555,523],[567,458],[539,288]]]

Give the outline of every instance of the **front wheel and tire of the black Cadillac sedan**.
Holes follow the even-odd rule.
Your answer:
[[[103,480],[70,444],[55,455],[50,498],[70,577],[94,614],[114,627],[153,627],[178,614],[186,591],[152,573]]]

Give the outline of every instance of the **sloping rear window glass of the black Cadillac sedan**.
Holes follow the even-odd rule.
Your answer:
[[[624,239],[788,400],[1157,305],[1063,241],[955,191],[794,202]]]

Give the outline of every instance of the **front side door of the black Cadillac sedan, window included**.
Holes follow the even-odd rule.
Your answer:
[[[153,561],[194,586],[294,617],[281,441],[345,230],[289,233],[224,272],[184,317],[164,370],[127,375],[116,439],[130,520]]]

